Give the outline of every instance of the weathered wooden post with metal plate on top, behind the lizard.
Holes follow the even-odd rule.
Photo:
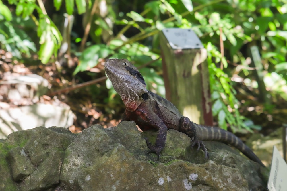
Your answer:
[[[191,29],[160,32],[166,99],[191,121],[212,125],[207,52]]]

